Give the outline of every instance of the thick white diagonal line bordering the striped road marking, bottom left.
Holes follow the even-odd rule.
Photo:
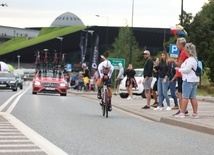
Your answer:
[[[47,154],[51,155],[68,155],[66,152],[61,150],[59,147],[39,135],[33,129],[22,123],[16,117],[11,114],[3,114],[4,118],[7,119],[13,126],[15,126],[21,133],[23,133],[28,139],[30,139],[35,145],[42,149]]]

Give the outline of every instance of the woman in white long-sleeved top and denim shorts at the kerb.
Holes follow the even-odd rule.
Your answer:
[[[182,63],[181,67],[175,69],[181,72],[183,84],[182,84],[182,104],[180,107],[180,113],[175,115],[177,118],[184,118],[185,111],[187,109],[188,100],[192,104],[193,114],[192,118],[199,118],[198,116],[198,101],[196,99],[196,89],[199,83],[199,76],[196,76],[195,72],[197,68],[197,54],[196,47],[192,43],[187,43],[185,46],[185,52],[187,59]]]

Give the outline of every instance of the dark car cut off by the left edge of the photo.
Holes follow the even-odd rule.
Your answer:
[[[0,72],[0,89],[17,91],[18,80],[16,76],[8,72]]]

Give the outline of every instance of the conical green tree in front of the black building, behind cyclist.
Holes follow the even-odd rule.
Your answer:
[[[118,37],[115,39],[113,49],[109,53],[109,58],[125,59],[126,67],[130,61],[130,45],[132,38],[132,64],[134,68],[143,67],[142,51],[138,48],[138,43],[133,36],[130,27],[122,27],[119,30]]]

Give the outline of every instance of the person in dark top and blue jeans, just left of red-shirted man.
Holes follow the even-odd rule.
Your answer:
[[[175,70],[176,64],[171,63],[170,64],[170,74],[169,74],[169,90],[171,93],[171,96],[174,100],[174,107],[172,109],[179,109],[178,107],[178,98],[176,95],[176,80],[174,79],[176,70]]]

